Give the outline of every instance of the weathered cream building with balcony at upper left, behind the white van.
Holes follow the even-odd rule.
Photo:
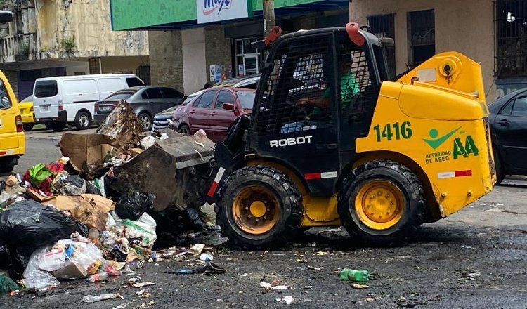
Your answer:
[[[113,32],[108,0],[6,0],[0,70],[22,100],[35,79],[129,72],[150,79],[148,32]]]

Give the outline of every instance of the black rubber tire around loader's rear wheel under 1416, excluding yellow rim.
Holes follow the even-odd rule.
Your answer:
[[[405,206],[401,219],[386,230],[367,227],[355,210],[360,188],[372,180],[389,180],[403,193]],[[403,243],[424,222],[424,190],[415,173],[403,164],[392,161],[372,161],[358,166],[345,180],[339,194],[339,216],[351,237],[366,246],[389,246]]]

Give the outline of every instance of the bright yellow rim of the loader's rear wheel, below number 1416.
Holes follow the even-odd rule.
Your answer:
[[[355,198],[355,211],[360,221],[373,230],[386,230],[403,216],[405,198],[393,183],[376,180],[360,188]]]

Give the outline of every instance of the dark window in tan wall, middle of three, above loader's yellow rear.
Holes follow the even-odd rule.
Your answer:
[[[408,13],[408,65],[416,67],[436,54],[434,10]]]

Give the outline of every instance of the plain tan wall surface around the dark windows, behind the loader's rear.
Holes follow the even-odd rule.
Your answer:
[[[488,103],[498,95],[494,79],[494,7],[492,0],[353,0],[350,20],[367,24],[367,17],[395,13],[396,71],[408,62],[407,13],[435,11],[436,53],[460,51],[481,63]]]

